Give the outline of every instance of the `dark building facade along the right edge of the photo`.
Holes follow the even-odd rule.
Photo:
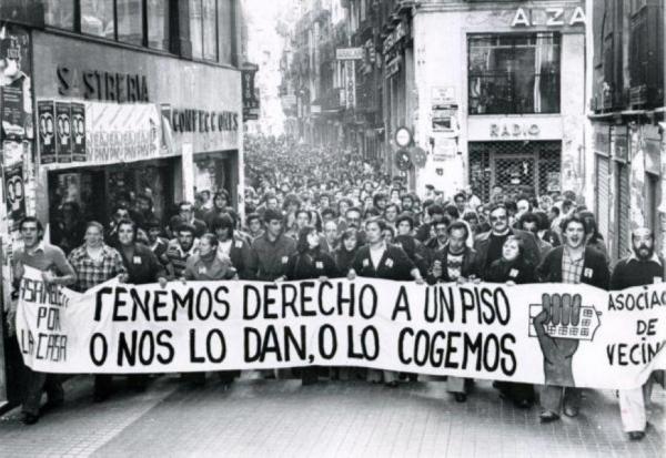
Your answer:
[[[666,254],[664,2],[591,2],[593,125],[587,169],[599,231],[613,259],[630,231],[652,228]],[[592,195],[593,194],[593,195]]]

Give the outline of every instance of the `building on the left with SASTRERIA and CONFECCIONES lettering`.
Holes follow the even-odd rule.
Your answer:
[[[64,203],[105,224],[114,205],[147,194],[165,223],[195,192],[225,190],[242,212],[236,0],[14,1],[1,11],[12,18],[0,30],[4,253],[28,214],[58,243]],[[7,299],[11,256],[2,259]]]

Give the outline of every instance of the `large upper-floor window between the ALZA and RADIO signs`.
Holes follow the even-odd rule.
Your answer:
[[[470,114],[559,112],[558,33],[471,35]]]

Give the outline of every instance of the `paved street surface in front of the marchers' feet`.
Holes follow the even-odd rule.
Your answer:
[[[119,378],[119,388],[123,381]],[[456,404],[436,381],[397,389],[362,381],[244,377],[229,390],[209,375],[203,388],[162,377],[143,394],[91,401],[91,377],[65,384],[68,400],[32,426],[19,411],[0,423],[0,455],[279,457],[663,457],[666,394],[653,395],[652,428],[640,442],[622,432],[612,391],[586,391],[576,419],[541,425],[478,383]]]

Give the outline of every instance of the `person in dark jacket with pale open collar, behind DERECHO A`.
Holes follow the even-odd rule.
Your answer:
[[[416,283],[423,284],[421,272],[403,248],[386,244],[382,236],[384,228],[386,223],[383,220],[371,218],[365,222],[367,245],[359,248],[347,278],[354,279],[359,275],[393,281],[415,279]],[[397,386],[397,373],[393,370],[369,370],[367,379],[379,383],[382,380],[382,374],[386,386]]]

